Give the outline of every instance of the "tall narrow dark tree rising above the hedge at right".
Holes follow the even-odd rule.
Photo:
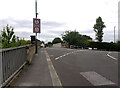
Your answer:
[[[98,42],[102,42],[102,37],[103,37],[103,28],[105,28],[106,26],[104,25],[104,22],[102,21],[101,17],[98,17],[96,19],[96,24],[93,26],[94,31],[96,32],[96,40],[98,40]]]

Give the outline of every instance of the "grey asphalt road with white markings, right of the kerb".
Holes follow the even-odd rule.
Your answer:
[[[117,85],[117,52],[65,48],[45,51],[62,86]]]

